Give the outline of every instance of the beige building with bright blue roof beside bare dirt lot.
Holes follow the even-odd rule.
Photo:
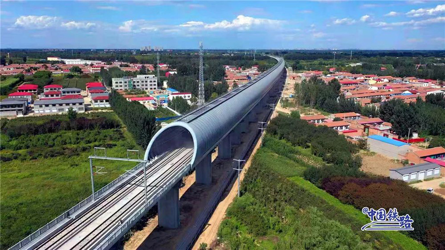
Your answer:
[[[368,136],[367,146],[372,152],[398,160],[404,159],[409,150],[408,143],[376,134]]]

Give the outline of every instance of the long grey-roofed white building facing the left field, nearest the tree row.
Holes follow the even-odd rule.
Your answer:
[[[85,112],[84,99],[55,99],[34,101],[35,113],[63,113],[73,108],[77,112]]]

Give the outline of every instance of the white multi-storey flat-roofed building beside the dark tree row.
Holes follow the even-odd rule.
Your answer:
[[[137,75],[136,77],[113,78],[112,83],[113,83],[113,88],[117,90],[158,89],[158,79],[155,77],[155,75]]]

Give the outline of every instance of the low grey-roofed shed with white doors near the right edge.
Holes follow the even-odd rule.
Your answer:
[[[404,180],[406,182],[424,180],[441,176],[441,166],[436,163],[422,163],[408,167],[390,169],[392,179]]]

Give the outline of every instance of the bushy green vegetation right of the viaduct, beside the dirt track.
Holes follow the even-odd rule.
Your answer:
[[[306,155],[305,155],[306,153]],[[227,210],[219,237],[230,249],[426,249],[400,232],[363,232],[366,215],[304,180],[321,158],[265,137]],[[301,156],[304,156],[302,158]]]

